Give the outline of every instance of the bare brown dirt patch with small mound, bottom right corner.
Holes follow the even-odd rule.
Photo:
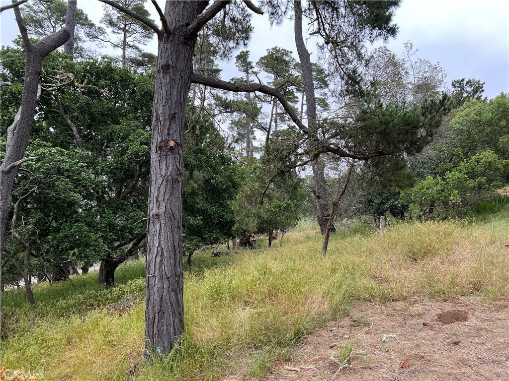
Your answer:
[[[359,303],[350,316],[310,334],[264,379],[509,380],[509,302]]]

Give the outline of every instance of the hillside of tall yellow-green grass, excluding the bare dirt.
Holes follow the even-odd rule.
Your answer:
[[[309,228],[273,250],[193,257],[185,274],[186,332],[173,356],[144,363],[144,262],[124,264],[117,286],[97,273],[41,284],[31,309],[4,293],[2,365],[48,380],[259,377],[306,332],[347,314],[358,300],[507,295],[509,210],[469,221],[399,223],[383,234],[338,233],[327,257]],[[107,305],[122,303],[104,308]]]

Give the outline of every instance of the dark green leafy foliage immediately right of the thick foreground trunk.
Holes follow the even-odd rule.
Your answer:
[[[188,105],[189,126],[184,148],[183,230],[187,255],[232,235],[232,202],[241,183],[240,168],[208,116]]]

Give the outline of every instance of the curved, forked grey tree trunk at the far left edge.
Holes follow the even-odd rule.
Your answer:
[[[23,163],[23,156],[34,121],[42,61],[70,37],[69,31],[64,27],[32,44],[17,6],[14,7],[14,15],[25,49],[25,81],[21,108],[16,114],[14,122],[7,128],[5,157],[0,165],[0,252],[4,247],[7,220],[11,211],[14,179],[19,165]]]

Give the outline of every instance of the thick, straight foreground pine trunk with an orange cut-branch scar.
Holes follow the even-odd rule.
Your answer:
[[[147,224],[146,355],[165,354],[184,330],[182,189],[185,106],[196,34],[186,28],[207,2],[166,2],[158,37]]]

